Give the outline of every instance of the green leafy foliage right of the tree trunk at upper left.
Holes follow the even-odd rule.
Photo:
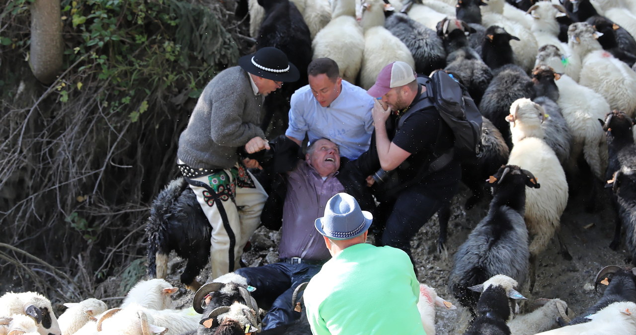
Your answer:
[[[239,57],[231,34],[202,4],[63,0],[62,15],[67,30],[79,39],[75,48],[66,50],[67,64],[79,62],[80,76],[107,82],[112,89],[102,90],[97,99],[109,112],[127,113],[133,122],[155,109],[153,104],[162,104],[150,97],[153,93],[185,90],[189,97],[198,97],[197,88]],[[60,101],[72,99],[74,90],[60,92]]]

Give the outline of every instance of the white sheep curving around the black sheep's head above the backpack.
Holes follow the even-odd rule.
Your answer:
[[[480,6],[481,22],[484,27],[499,25],[511,34],[519,38],[519,41],[510,41],[510,46],[515,53],[515,64],[530,72],[534,67],[534,60],[537,57],[537,39],[530,29],[522,24],[504,17],[504,0],[489,0],[488,6]]]

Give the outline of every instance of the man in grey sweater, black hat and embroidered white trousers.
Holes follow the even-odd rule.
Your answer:
[[[219,72],[205,87],[177,151],[177,166],[212,226],[212,278],[240,268],[267,198],[246,168],[259,167],[258,161],[240,161],[237,150],[270,148],[259,128],[263,100],[299,77],[287,56],[272,47],[241,57],[239,65]]]

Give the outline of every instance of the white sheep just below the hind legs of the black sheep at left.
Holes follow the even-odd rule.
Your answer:
[[[139,304],[153,310],[165,310],[172,305],[172,294],[179,291],[178,287],[163,279],[141,280],[135,284],[121,303],[121,308],[130,304]]]

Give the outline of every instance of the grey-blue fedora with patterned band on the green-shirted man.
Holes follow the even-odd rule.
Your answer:
[[[356,199],[347,193],[332,196],[324,216],[315,221],[316,230],[331,240],[349,240],[362,235],[373,221],[373,215],[361,210]]]

